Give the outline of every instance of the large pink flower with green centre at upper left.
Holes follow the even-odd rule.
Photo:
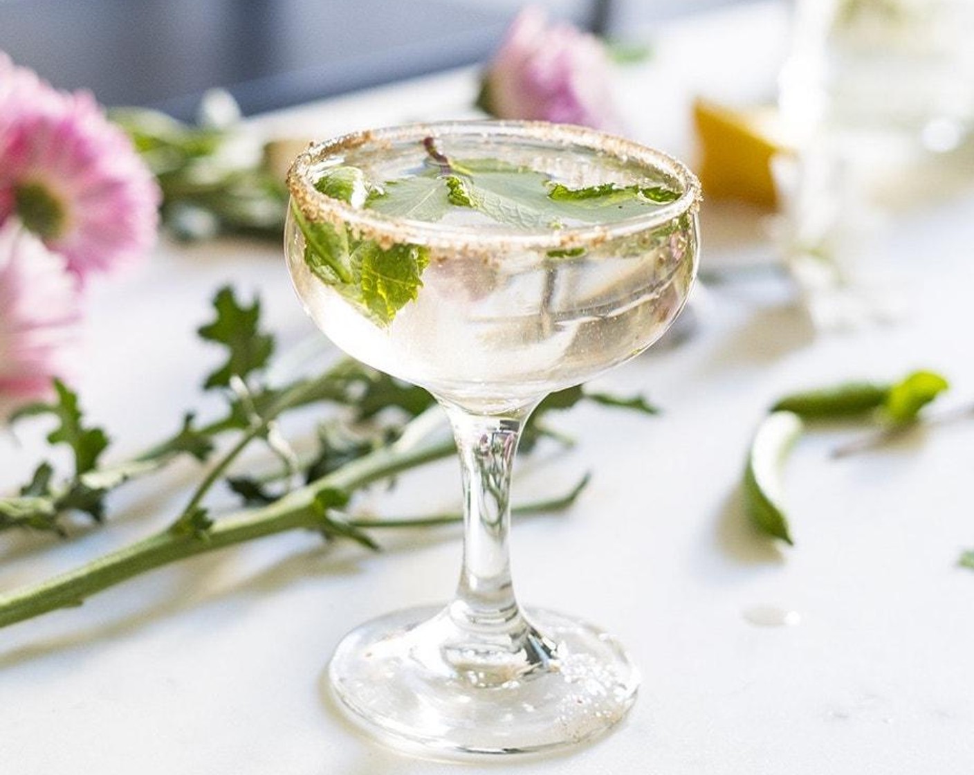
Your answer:
[[[0,53],[0,224],[19,216],[84,279],[155,242],[159,187],[94,97]]]

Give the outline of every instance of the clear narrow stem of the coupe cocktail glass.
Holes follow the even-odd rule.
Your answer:
[[[464,564],[450,604],[454,625],[471,642],[524,648],[528,626],[510,578],[510,474],[524,421],[537,403],[504,416],[446,405],[464,477]]]

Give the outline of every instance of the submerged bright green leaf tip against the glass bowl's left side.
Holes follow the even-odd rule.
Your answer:
[[[362,303],[382,324],[414,301],[423,286],[423,270],[430,263],[430,249],[419,245],[393,245],[383,250],[376,243],[359,244],[352,254],[357,265]]]

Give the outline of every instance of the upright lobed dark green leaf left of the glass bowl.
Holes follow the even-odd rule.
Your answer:
[[[224,287],[213,298],[216,320],[199,329],[207,341],[221,344],[229,351],[226,363],[212,371],[204,383],[207,390],[226,387],[233,376],[245,379],[248,374],[267,365],[274,352],[274,337],[260,329],[260,300],[243,306],[233,289]]]

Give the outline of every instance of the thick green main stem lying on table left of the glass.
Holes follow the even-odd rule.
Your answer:
[[[395,445],[382,447],[312,484],[288,493],[268,506],[225,517],[213,523],[200,535],[178,533],[168,527],[79,568],[0,596],[0,627],[7,627],[57,608],[81,605],[101,590],[170,562],[285,530],[321,529],[324,526],[323,515],[315,508],[318,494],[328,489],[352,492],[366,484],[449,457],[453,453],[452,440],[406,449]],[[377,525],[373,523],[371,526]]]

